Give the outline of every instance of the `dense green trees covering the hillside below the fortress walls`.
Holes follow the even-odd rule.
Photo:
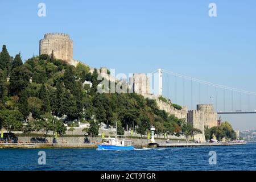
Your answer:
[[[54,59],[53,52],[51,56],[33,56],[23,64],[20,53],[12,60],[3,46],[0,68],[3,127],[7,127],[6,122],[23,121],[27,122],[23,127],[25,133],[43,130],[45,136],[49,131],[63,135],[65,127],[61,122],[85,121],[90,123],[88,133],[96,136],[101,122],[107,126],[115,126],[117,122],[118,135],[123,135],[124,129],[146,135],[150,125],[155,125],[158,135],[184,133],[184,119],[159,110],[154,100],[138,94],[100,94],[97,69],[90,73],[84,64],[73,67]],[[92,82],[92,87],[84,85],[84,81]],[[56,120],[56,117],[61,119]],[[14,129],[12,126],[9,130]],[[199,132],[187,129],[191,136]]]

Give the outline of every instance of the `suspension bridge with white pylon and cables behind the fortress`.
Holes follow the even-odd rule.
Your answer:
[[[218,114],[256,114],[256,92],[232,88],[179,73],[157,69],[156,93],[172,103],[190,106],[213,104]]]

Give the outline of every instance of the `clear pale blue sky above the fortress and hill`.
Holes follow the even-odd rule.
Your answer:
[[[46,17],[38,16],[40,2],[46,4]],[[217,17],[208,15],[211,2],[217,5]],[[45,33],[64,32],[73,40],[73,59],[92,67],[115,68],[117,73],[164,68],[256,92],[254,0],[9,0],[0,1],[0,17],[0,45],[6,44],[11,56],[20,51],[23,61],[39,54]],[[169,90],[173,100],[173,89]],[[190,104],[187,95],[185,105]],[[256,97],[249,100],[251,110],[256,110]],[[199,102],[195,98],[193,103],[195,109]],[[228,101],[226,107],[230,108]],[[234,129],[256,129],[256,114],[222,118]]]

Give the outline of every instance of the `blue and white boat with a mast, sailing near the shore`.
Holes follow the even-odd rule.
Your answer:
[[[115,123],[115,138],[102,139],[102,143],[98,144],[97,150],[134,150],[131,140],[117,139],[117,123]]]

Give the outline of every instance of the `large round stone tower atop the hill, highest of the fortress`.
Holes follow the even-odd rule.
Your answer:
[[[71,64],[73,61],[73,41],[68,34],[49,33],[40,40],[39,54],[53,55],[56,59],[67,61]]]

